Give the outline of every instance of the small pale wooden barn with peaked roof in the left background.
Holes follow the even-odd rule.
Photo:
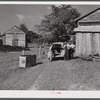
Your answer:
[[[6,31],[1,37],[3,45],[26,47],[26,34],[17,26]]]

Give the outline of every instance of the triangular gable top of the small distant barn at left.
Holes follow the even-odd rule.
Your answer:
[[[17,33],[17,34],[25,34],[25,32],[23,32],[19,27],[17,26],[13,26],[11,29],[9,29],[8,31],[6,31],[4,34],[13,34],[13,33]]]

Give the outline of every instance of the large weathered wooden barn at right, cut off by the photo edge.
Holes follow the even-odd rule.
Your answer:
[[[100,8],[76,19],[76,56],[100,55]]]

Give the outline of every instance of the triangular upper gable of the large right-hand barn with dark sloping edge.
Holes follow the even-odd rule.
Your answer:
[[[90,13],[81,16],[75,20],[75,22],[93,22],[93,21],[100,21],[100,8],[97,8]]]

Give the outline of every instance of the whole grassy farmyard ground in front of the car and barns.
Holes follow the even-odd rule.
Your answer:
[[[37,65],[19,68],[21,52],[0,53],[0,90],[100,90],[100,61],[38,58]]]

